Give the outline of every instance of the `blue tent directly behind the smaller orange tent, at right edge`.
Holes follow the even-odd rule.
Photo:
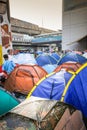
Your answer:
[[[61,59],[58,61],[58,65],[61,65],[64,62],[68,62],[68,61],[75,61],[75,62],[83,64],[83,63],[87,62],[87,59],[74,52],[68,52],[66,55],[61,57]]]

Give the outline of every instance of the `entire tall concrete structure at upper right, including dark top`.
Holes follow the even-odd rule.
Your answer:
[[[62,49],[87,49],[87,0],[63,0]]]

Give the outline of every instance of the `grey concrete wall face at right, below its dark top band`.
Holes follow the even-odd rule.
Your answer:
[[[84,50],[87,41],[78,40],[87,36],[87,7],[64,11],[63,8],[63,34],[62,49]]]

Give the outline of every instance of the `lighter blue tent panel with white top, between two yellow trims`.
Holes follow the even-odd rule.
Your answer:
[[[36,84],[36,86],[34,86],[28,97],[32,95],[35,97],[60,100],[65,84],[72,75],[66,73],[65,70],[62,70],[44,78],[38,85]]]

